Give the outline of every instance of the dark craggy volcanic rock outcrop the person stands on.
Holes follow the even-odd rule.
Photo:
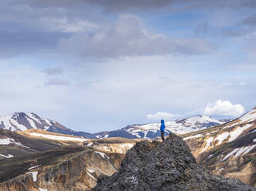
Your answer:
[[[94,191],[107,190],[256,190],[238,179],[213,176],[201,168],[182,138],[138,142],[127,152],[118,173],[97,179]]]

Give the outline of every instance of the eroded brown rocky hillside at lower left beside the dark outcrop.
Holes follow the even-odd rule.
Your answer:
[[[121,159],[123,156],[118,153],[80,146],[5,159],[0,163],[0,190],[90,190],[96,185],[98,176],[116,173]],[[15,171],[10,172],[12,169]],[[17,175],[12,176],[15,172]],[[34,177],[32,173],[36,173]]]

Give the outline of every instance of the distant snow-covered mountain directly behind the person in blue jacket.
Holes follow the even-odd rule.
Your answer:
[[[184,134],[187,132],[194,132],[200,129],[206,129],[211,126],[217,126],[223,124],[217,119],[210,118],[209,116],[192,116],[186,119],[177,119],[174,122],[166,122],[166,135],[169,132],[176,134]],[[122,129],[118,129],[111,132],[99,132],[94,136],[97,138],[107,137],[125,137],[129,139],[136,138],[155,138],[160,135],[159,127],[160,123],[148,123],[143,125],[130,125]]]

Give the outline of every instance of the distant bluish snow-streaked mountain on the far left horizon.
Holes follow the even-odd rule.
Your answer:
[[[95,139],[96,137],[87,132],[76,132],[68,129],[51,119],[45,119],[37,116],[32,112],[15,112],[9,116],[0,116],[0,129],[8,129],[10,131],[26,131],[28,129],[43,129],[49,132],[58,132],[72,136],[83,136],[87,139]]]

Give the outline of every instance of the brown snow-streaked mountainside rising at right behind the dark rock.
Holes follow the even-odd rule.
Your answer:
[[[196,160],[213,173],[256,186],[256,107],[210,129],[183,135]]]

